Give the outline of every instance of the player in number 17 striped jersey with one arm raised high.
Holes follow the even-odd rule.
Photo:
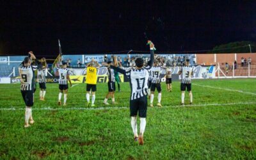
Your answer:
[[[152,67],[154,62],[154,44],[148,41],[150,44],[150,62],[147,67],[144,66],[142,58],[137,58],[135,61],[135,68],[128,68],[123,70],[121,68],[110,65],[111,68],[129,77],[131,85],[131,99],[130,99],[130,115],[131,126],[134,133],[134,140],[139,141],[140,145],[143,145],[143,134],[146,127],[147,117],[147,95],[148,95],[148,70]],[[116,59],[116,58],[115,58]],[[140,135],[137,133],[137,115],[140,116]]]

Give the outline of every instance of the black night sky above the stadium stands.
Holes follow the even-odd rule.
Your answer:
[[[224,0],[223,0],[224,1]],[[0,54],[212,49],[256,41],[256,1],[1,1]]]

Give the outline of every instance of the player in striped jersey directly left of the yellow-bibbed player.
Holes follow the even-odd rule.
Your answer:
[[[58,72],[59,72],[59,101],[58,101],[58,105],[61,105],[61,97],[62,97],[62,93],[64,92],[64,102],[63,102],[63,106],[67,105],[67,96],[68,96],[68,81],[70,83],[70,87],[72,86],[71,80],[69,78],[69,74],[68,74],[68,69],[67,69],[67,63],[63,62],[62,63],[62,67],[58,68]]]

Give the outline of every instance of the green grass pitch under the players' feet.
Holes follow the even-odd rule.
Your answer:
[[[1,84],[0,159],[256,159],[256,79],[194,80],[193,105],[185,107],[179,87],[174,82],[168,93],[162,83],[164,107],[148,108],[140,146],[128,83],[113,106],[102,104],[108,86],[98,84],[95,108],[85,107],[85,84],[69,89],[65,107],[57,106],[58,84],[47,84],[45,102],[36,91],[27,129],[19,84]]]

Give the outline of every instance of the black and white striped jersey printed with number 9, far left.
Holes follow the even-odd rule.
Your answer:
[[[35,79],[34,71],[37,69],[36,65],[24,66],[20,65],[19,74],[20,74],[20,90],[22,91],[31,91],[35,88]]]

